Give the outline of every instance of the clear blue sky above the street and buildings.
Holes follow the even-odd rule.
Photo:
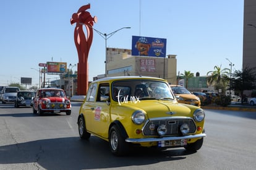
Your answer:
[[[242,69],[244,1],[242,0],[1,0],[0,85],[31,77],[39,83],[39,63],[77,64],[73,13],[87,11],[98,18],[93,28],[111,33],[108,48],[132,49],[132,36],[166,38],[166,55],[175,54],[177,73]],[[229,61],[228,61],[229,60]],[[105,74],[105,39],[93,32],[88,56],[89,81]],[[72,70],[77,70],[76,66]],[[46,75],[46,80],[59,75]]]

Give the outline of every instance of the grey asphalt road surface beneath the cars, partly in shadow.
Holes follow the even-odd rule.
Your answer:
[[[0,104],[0,169],[255,169],[256,113],[205,109],[207,137],[197,152],[136,148],[116,157],[108,143],[80,140],[72,113],[38,116]]]

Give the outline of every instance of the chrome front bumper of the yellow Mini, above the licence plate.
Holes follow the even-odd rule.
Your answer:
[[[180,140],[180,139],[189,139],[189,138],[202,138],[206,137],[206,134],[197,134],[197,135],[187,135],[181,137],[163,137],[163,138],[127,138],[126,142],[132,143],[141,143],[141,142],[159,142],[164,140]]]

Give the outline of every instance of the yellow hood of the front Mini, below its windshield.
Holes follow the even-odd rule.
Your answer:
[[[147,113],[148,118],[153,117],[169,117],[169,116],[191,116],[197,107],[177,103],[176,101],[168,100],[147,100],[138,103],[124,103],[120,107],[125,109],[143,110]]]

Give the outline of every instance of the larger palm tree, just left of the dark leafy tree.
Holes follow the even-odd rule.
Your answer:
[[[208,74],[211,74],[209,77],[207,77],[208,83],[212,84],[215,83],[215,90],[221,89],[221,91],[224,93],[226,91],[227,84],[229,82],[229,74],[230,69],[224,68],[221,70],[221,66],[214,66],[213,71],[207,72]]]

